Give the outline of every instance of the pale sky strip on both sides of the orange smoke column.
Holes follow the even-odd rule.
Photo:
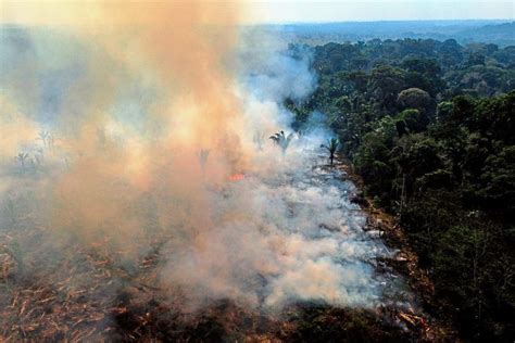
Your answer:
[[[97,4],[155,4],[166,0],[0,0],[0,23],[67,23],[77,16],[93,16]],[[191,0],[174,0],[191,1]],[[202,0],[221,13],[230,3],[242,2],[242,24],[327,23],[397,20],[515,18],[515,0]],[[84,11],[85,5],[88,11]],[[222,15],[223,17],[223,15]]]

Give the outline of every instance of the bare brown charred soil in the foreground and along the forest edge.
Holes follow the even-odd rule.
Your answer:
[[[335,167],[362,188],[361,179],[348,165],[338,163]],[[360,201],[369,215],[365,229],[379,232],[390,249],[399,250],[392,258],[378,257],[377,272],[391,268],[403,275],[422,302],[431,304],[432,284],[417,267],[417,257],[394,218],[375,208],[368,199]],[[159,285],[161,247],[168,237],[153,236],[152,250],[133,265],[116,263],[116,256],[102,252],[105,242],[71,242],[68,254],[52,261],[51,268],[37,270],[32,266],[38,259],[52,256],[36,253],[22,258],[12,242],[38,241],[45,230],[12,231],[0,238],[2,341],[455,341],[453,330],[416,306],[406,310],[393,303],[359,309],[301,302],[269,313],[218,300],[200,310],[185,312],[180,290]]]

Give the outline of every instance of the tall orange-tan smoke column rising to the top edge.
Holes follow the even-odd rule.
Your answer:
[[[72,204],[68,211],[59,208],[55,213],[59,227],[66,213],[79,216],[88,227],[117,233],[118,240],[135,237],[143,223],[126,215],[131,198],[160,189],[164,196],[158,202],[160,223],[186,223],[193,241],[196,231],[210,229],[210,205],[202,185],[206,180],[226,180],[244,162],[237,136],[242,127],[241,109],[231,92],[231,75],[225,65],[230,62],[237,41],[238,11],[236,4],[219,7],[205,1],[108,2],[96,7],[93,23],[100,24],[98,28],[77,27],[79,35],[91,35],[112,61],[96,59],[93,73],[89,73],[93,80],[83,86],[89,86],[88,90],[77,90],[79,94],[95,92],[93,101],[98,103],[73,140],[86,157],[59,186],[58,196]],[[105,29],[104,23],[113,24]],[[154,137],[135,137],[122,145],[110,142],[109,137],[99,141],[98,130],[105,130],[112,120],[110,101],[120,87],[116,76],[109,73],[109,63],[125,65],[128,73],[155,75],[163,100],[152,105],[146,119],[147,124],[159,126]],[[115,125],[124,129],[123,123]],[[205,170],[197,161],[202,149],[210,152]],[[125,191],[112,186],[120,179],[129,185]],[[83,198],[71,193],[74,183],[80,185],[77,193]],[[97,195],[104,193],[110,195]],[[97,221],[89,223],[89,218]],[[102,228],[106,224],[116,228]],[[99,237],[98,232],[92,237]]]

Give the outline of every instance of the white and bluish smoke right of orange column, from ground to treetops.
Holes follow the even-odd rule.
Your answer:
[[[249,125],[244,135],[264,130],[263,145],[255,147],[261,150],[244,178],[209,190],[213,229],[199,233],[193,245],[172,242],[163,279],[188,290],[191,303],[377,305],[381,283],[370,262],[386,250],[363,231],[365,216],[349,200],[353,186],[319,167],[326,156],[317,147],[327,130],[296,136],[285,156],[268,139],[274,130],[291,132],[293,115],[284,101],[301,101],[316,86],[309,52],[296,59],[278,45],[241,50],[237,93]]]

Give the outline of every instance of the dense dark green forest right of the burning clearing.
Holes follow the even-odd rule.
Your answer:
[[[290,47],[294,55],[301,47]],[[304,49],[304,48],[302,48]],[[515,47],[372,40],[316,47],[318,110],[394,214],[464,339],[515,336]]]

